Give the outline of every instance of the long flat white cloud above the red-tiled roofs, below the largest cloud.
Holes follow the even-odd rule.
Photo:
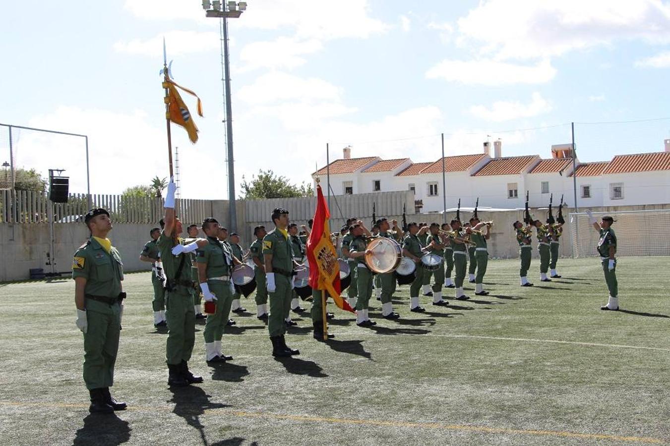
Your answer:
[[[517,65],[495,60],[443,60],[425,76],[468,85],[543,84],[556,75],[549,60],[536,65]]]

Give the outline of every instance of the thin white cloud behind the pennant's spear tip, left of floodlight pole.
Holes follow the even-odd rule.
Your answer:
[[[162,58],[163,38],[165,38],[168,58],[218,50],[220,46],[219,33],[215,31],[167,31],[150,39],[116,42],[114,50],[120,53]]]

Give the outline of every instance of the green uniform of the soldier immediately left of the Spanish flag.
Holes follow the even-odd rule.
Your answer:
[[[275,273],[275,291],[269,293],[270,317],[267,329],[271,337],[283,336],[286,333],[284,323],[291,308],[293,291],[293,249],[291,243],[279,231],[271,230],[263,238],[263,254],[272,254],[272,272]]]

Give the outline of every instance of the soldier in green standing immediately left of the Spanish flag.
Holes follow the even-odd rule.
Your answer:
[[[270,300],[270,316],[267,322],[273,356],[291,356],[300,354],[286,345],[284,323],[291,305],[293,291],[293,250],[289,242],[289,212],[275,208],[271,214],[275,229],[263,238],[263,257],[265,259],[265,277]]]

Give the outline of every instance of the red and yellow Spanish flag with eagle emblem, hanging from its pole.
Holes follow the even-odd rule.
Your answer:
[[[310,287],[324,290],[332,297],[338,308],[355,313],[346,300],[340,296],[340,265],[337,261],[335,247],[330,240],[330,226],[328,225],[328,205],[321,190],[316,185],[316,212],[312,233],[307,240],[307,258],[310,262]]]

